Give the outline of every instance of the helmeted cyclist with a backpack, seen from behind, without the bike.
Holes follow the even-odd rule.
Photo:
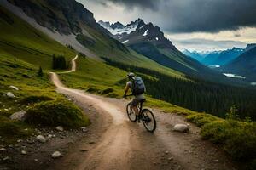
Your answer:
[[[144,92],[146,91],[144,83],[142,81],[142,79],[140,77],[136,77],[135,74],[133,72],[128,73],[127,75],[128,78],[128,82],[126,82],[126,86],[125,86],[125,94],[124,94],[124,98],[127,96],[127,93],[129,91],[129,89],[131,89],[132,95],[134,95],[134,98],[131,101],[131,109],[133,111],[135,111],[135,114],[138,118],[139,115],[139,111],[137,108],[137,105],[143,100],[145,99],[144,97]],[[137,90],[135,89],[137,86],[137,80],[141,80],[141,83],[143,84],[143,86],[141,86],[141,90]],[[139,119],[138,119],[139,121]]]

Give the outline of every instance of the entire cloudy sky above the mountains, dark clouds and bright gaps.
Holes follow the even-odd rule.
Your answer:
[[[160,26],[179,49],[244,48],[256,42],[256,0],[77,0],[96,20]]]

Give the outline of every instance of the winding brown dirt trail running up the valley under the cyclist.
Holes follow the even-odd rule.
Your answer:
[[[75,59],[68,72],[75,71]],[[188,123],[182,116],[153,109],[158,127],[148,133],[142,124],[129,122],[127,100],[67,88],[57,74],[50,75],[59,93],[81,108],[90,105],[94,114],[89,115],[90,135],[73,144],[49,169],[236,169],[216,146],[201,140],[198,127],[191,124],[190,133],[173,132],[175,124]]]

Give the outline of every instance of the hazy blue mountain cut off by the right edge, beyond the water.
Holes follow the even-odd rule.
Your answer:
[[[241,75],[248,81],[256,81],[256,47],[248,49],[227,65],[221,67],[222,71]]]

